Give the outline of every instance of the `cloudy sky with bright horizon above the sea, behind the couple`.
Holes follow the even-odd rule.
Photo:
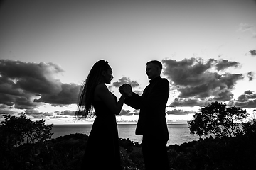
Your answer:
[[[26,114],[46,123],[76,120],[80,86],[98,60],[107,85],[149,84],[146,62],[169,80],[168,123],[186,123],[213,101],[256,108],[256,1],[8,0],[0,4],[0,118]],[[136,123],[124,105],[118,122]]]

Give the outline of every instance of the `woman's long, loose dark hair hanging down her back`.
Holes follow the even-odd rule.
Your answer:
[[[78,98],[78,111],[75,112],[75,115],[87,118],[92,113],[95,87],[100,84],[103,72],[106,72],[108,69],[111,69],[111,67],[105,60],[100,60],[92,66],[87,79],[81,86]]]

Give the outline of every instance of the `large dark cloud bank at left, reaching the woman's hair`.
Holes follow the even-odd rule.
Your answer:
[[[63,84],[56,76],[64,70],[57,64],[0,60],[0,104],[34,109],[43,103],[76,103],[80,86]]]

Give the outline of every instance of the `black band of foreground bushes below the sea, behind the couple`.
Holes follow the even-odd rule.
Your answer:
[[[25,124],[24,124],[25,123]],[[0,124],[1,170],[80,169],[88,136],[70,134],[50,139],[51,125],[26,117],[6,117]],[[252,170],[256,162],[255,121],[236,137],[209,137],[167,147],[172,170]],[[102,139],[104,145],[104,139]],[[124,170],[142,170],[142,145],[119,139]],[[107,146],[106,146],[107,147]]]

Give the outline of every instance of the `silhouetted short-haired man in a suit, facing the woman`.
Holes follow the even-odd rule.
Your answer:
[[[132,87],[124,84],[120,91],[127,94],[124,103],[140,109],[136,135],[142,136],[142,153],[146,170],[167,170],[166,143],[169,132],[166,125],[166,103],[169,97],[169,81],[160,77],[162,64],[152,60],[146,63],[146,74],[150,84],[142,96],[132,92]]]

